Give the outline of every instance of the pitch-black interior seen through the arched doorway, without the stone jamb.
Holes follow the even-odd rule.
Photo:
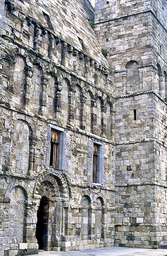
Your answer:
[[[39,246],[39,250],[43,249],[43,233],[44,233],[44,208],[46,197],[42,197],[40,200],[40,206],[37,211],[37,226],[36,226],[36,238]]]

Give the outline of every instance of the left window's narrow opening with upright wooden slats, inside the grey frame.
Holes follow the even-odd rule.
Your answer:
[[[57,147],[58,147],[58,132],[51,130],[51,141],[50,141],[50,160],[49,166],[51,168],[57,168]]]

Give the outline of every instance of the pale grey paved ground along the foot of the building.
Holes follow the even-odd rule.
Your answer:
[[[39,256],[165,256],[167,249],[141,249],[127,247],[104,247],[90,250],[79,250],[70,252],[39,252]],[[31,255],[37,256],[37,255]]]

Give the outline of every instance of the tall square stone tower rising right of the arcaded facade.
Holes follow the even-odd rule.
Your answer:
[[[167,1],[96,0],[114,72],[115,245],[167,243]]]

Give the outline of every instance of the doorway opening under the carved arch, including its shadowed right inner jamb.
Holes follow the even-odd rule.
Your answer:
[[[47,197],[42,197],[40,206],[37,211],[37,226],[36,238],[39,245],[39,250],[48,250],[49,247],[49,200]]]

